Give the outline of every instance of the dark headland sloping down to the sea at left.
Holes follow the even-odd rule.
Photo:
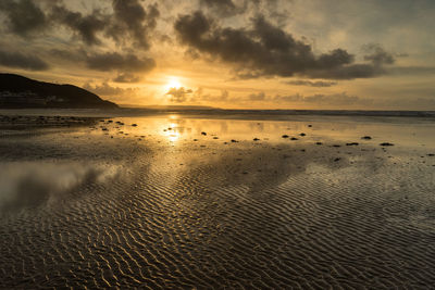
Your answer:
[[[0,108],[116,109],[119,106],[73,85],[58,85],[14,74],[0,74]]]

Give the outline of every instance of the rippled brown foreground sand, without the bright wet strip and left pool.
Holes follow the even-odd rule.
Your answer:
[[[47,151],[47,138],[23,162],[86,160],[123,175],[3,213],[0,288],[435,283],[435,179],[407,156],[351,148],[337,163],[336,149],[314,144],[176,149],[84,136]]]

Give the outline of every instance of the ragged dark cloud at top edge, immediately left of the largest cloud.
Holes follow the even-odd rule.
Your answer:
[[[149,34],[156,28],[160,16],[157,4],[145,9],[138,0],[113,0],[113,22],[107,30],[107,36],[117,43],[125,41],[129,36],[138,47],[148,49]]]

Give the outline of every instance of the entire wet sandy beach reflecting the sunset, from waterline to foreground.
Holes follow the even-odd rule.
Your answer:
[[[433,121],[96,122],[0,129],[0,288],[435,285]]]

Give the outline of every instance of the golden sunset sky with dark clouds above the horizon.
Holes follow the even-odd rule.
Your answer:
[[[435,110],[433,0],[1,0],[0,72],[121,105]]]

